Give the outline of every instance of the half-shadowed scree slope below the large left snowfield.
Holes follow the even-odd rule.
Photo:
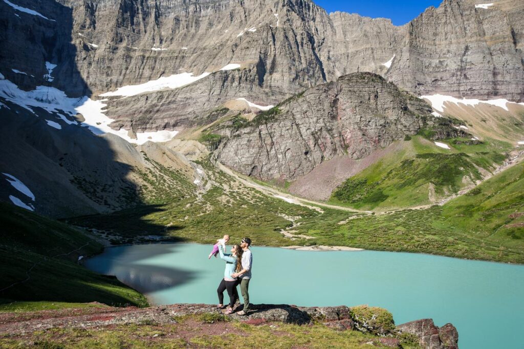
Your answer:
[[[159,143],[133,147],[114,134],[95,136],[76,124],[60,126],[46,110],[28,113],[11,102],[1,111],[3,200],[30,202],[40,214],[61,218],[154,202],[168,195],[166,187],[172,190],[170,196],[196,191],[192,182],[197,166]],[[10,176],[26,186],[32,198],[10,183]]]

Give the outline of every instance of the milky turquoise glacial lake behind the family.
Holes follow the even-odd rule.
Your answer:
[[[110,247],[85,265],[115,275],[157,305],[212,304],[225,262],[208,260],[211,249],[187,243]],[[522,265],[378,251],[252,251],[252,303],[368,304],[391,311],[397,324],[451,322],[461,349],[524,348]]]

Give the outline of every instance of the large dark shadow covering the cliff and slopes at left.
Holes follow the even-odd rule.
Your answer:
[[[20,98],[9,95],[12,91],[0,95],[4,96],[0,97],[0,200],[16,210],[20,209],[11,206],[13,202],[23,202],[34,207],[37,213],[31,216],[34,224],[8,225],[6,216],[0,216],[0,226],[9,229],[8,235],[13,238],[4,239],[0,246],[0,303],[31,300],[145,305],[143,296],[116,279],[97,275],[71,263],[77,260],[79,251],[93,254],[99,252],[102,245],[74,229],[63,228],[67,227],[64,224],[60,232],[64,235],[60,235],[54,226],[60,223],[42,217],[57,219],[94,215],[129,207],[140,207],[139,211],[147,215],[160,208],[141,206],[144,202],[140,188],[129,179],[133,166],[117,160],[135,156],[138,152],[133,146],[111,134],[95,136],[70,116],[64,116],[67,113],[59,108],[59,98],[63,97],[60,92],[58,97],[53,94],[57,89],[64,91],[68,98],[80,100],[83,96],[92,96],[75,63],[77,46],[72,42],[78,37],[73,32],[73,9],[52,0],[19,0],[16,6],[40,15],[0,2],[2,81],[5,86],[15,84],[17,88],[12,88],[12,91],[16,90],[14,93],[18,95],[27,96],[27,92],[38,88],[47,91],[47,95],[35,94],[32,98],[44,107],[52,105],[58,112],[34,105],[28,108]],[[87,27],[92,25],[84,24]],[[82,48],[91,50],[85,43]],[[46,62],[56,64],[52,73],[46,69]],[[2,173],[16,177],[34,198],[27,194],[27,190],[20,190],[20,186],[7,181],[8,176]],[[107,217],[114,226],[146,235],[164,235],[179,229],[160,227],[146,219],[132,220],[122,215]],[[118,221],[119,218],[122,221]],[[57,233],[60,239],[31,241],[31,234],[41,238],[45,232]],[[67,234],[83,238],[66,243],[61,238]],[[67,253],[53,252],[57,241],[67,245]],[[189,279],[191,275],[184,274],[183,277]]]

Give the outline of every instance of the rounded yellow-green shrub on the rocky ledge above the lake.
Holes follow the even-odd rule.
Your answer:
[[[389,311],[378,307],[357,306],[350,310],[355,327],[361,332],[376,335],[390,334],[395,330],[395,322]]]

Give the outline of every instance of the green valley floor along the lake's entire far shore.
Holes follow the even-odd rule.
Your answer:
[[[470,160],[476,156],[474,153],[466,156],[457,150],[451,155],[476,161]],[[145,206],[71,221],[106,230],[107,234],[120,237],[119,241],[124,243],[137,241],[137,237],[148,234],[212,243],[228,233],[233,241],[248,235],[257,245],[343,245],[524,263],[524,244],[519,238],[522,228],[500,227],[502,223],[515,224],[524,219],[508,218],[510,211],[524,211],[518,205],[524,192],[521,187],[524,182],[518,175],[519,171],[522,172],[522,164],[492,177],[475,189],[485,194],[461,196],[443,207],[375,215],[327,208],[323,208],[322,213],[317,212],[263,195],[235,182],[209,162],[202,163],[202,166],[214,183],[196,200],[185,198],[155,207]],[[387,164],[384,167],[387,168]],[[424,170],[423,166],[421,168]],[[402,179],[402,175],[395,178]],[[489,199],[480,204],[478,200],[485,198],[486,193],[490,195]],[[462,207],[460,210],[457,209],[459,206]],[[477,206],[478,209],[472,209]],[[501,207],[504,210],[497,211],[501,212],[500,216],[490,213]],[[485,220],[479,220],[479,217]],[[313,239],[284,237],[280,230],[289,229],[292,221],[292,234],[308,235]]]

